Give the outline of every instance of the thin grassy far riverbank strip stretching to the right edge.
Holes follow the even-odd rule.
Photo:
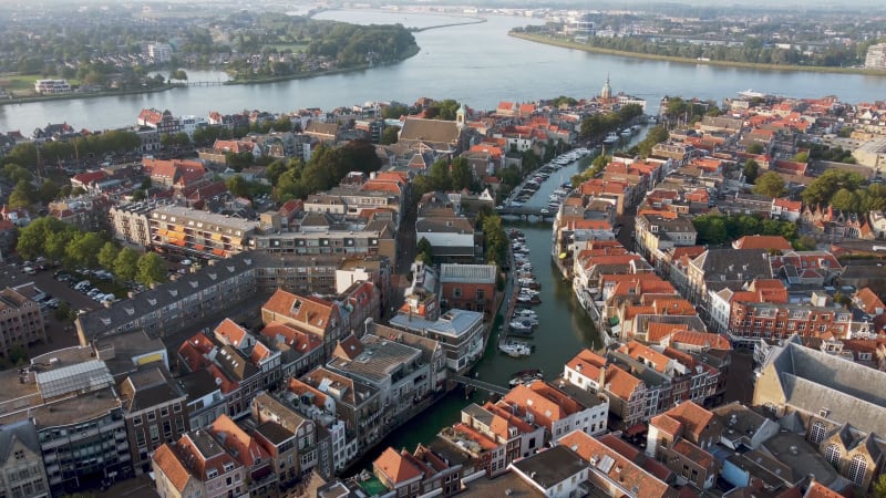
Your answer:
[[[704,65],[715,65],[720,68],[739,68],[739,69],[762,70],[762,71],[863,74],[866,76],[886,76],[886,71],[866,70],[863,68],[827,68],[820,65],[781,65],[781,64],[759,64],[754,62],[698,60],[690,58],[678,58],[672,55],[657,55],[651,53],[627,52],[624,50],[602,49],[599,46],[590,46],[584,43],[577,43],[569,40],[557,40],[548,37],[542,37],[538,34],[519,33],[515,31],[511,31],[507,34],[509,37],[518,38],[521,40],[526,40],[535,43],[543,43],[553,46],[562,46],[564,49],[575,49],[584,52],[618,55],[624,58],[646,59],[650,61],[677,62],[681,64],[696,64],[696,65],[704,64]]]

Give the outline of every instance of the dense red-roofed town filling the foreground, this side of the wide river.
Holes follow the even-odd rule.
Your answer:
[[[600,84],[0,135],[6,492],[880,496],[886,104]]]

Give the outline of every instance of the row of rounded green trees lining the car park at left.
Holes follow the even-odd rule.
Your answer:
[[[19,234],[16,251],[27,259],[44,257],[61,261],[65,268],[89,269],[101,266],[121,280],[144,284],[162,282],[165,277],[163,259],[154,252],[120,249],[106,240],[106,234],[80,231],[51,216],[39,218]]]

